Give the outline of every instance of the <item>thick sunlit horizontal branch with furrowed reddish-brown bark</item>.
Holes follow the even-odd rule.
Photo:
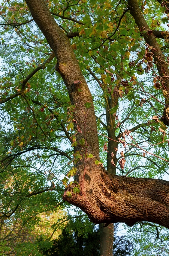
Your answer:
[[[98,186],[92,187],[92,193],[68,198],[65,192],[64,200],[80,207],[96,224],[125,222],[133,226],[150,221],[169,228],[169,181],[115,176],[98,168],[94,182]],[[71,187],[67,190],[72,191]]]

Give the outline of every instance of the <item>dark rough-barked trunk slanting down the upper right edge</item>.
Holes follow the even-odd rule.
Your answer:
[[[133,16],[135,23],[137,24],[140,30],[144,31],[144,39],[147,44],[153,47],[151,52],[153,53],[154,63],[157,65],[157,70],[161,76],[161,83],[163,85],[163,90],[169,91],[169,68],[168,63],[165,61],[165,56],[163,55],[159,44],[157,43],[156,37],[154,34],[148,34],[148,31],[151,33],[151,29],[148,26],[141,9],[138,5],[138,0],[128,0],[128,5],[130,9],[130,14]],[[162,121],[169,126],[169,99],[165,100],[165,108],[162,116]]]

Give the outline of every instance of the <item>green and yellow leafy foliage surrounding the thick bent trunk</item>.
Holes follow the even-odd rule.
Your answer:
[[[110,109],[110,114],[116,115],[114,136],[121,138],[125,130],[130,130],[132,136],[125,132],[123,142],[118,144],[116,173],[144,178],[168,175],[169,133],[160,121],[164,92],[158,87],[162,84],[155,63],[146,55],[151,49],[145,45],[141,31],[131,19],[126,2],[46,0],[46,4],[70,38],[91,89],[100,145],[100,160],[96,160],[96,165],[107,166],[107,152],[103,151],[103,145],[108,142],[107,102],[117,97],[117,104]],[[150,29],[166,30],[164,24],[168,16],[159,2],[148,0],[139,5]],[[70,104],[67,88],[55,70],[57,59],[32,20],[26,3],[3,0],[0,15],[0,243],[3,248],[0,253],[9,253],[9,248],[15,253],[12,248],[18,247],[19,255],[24,243],[22,253],[26,255],[30,254],[31,242],[25,245],[25,232],[28,229],[31,232],[38,225],[40,213],[67,205],[62,201],[63,185],[76,174],[76,168],[70,169],[70,165],[84,159],[84,155],[79,152],[73,155],[77,133],[80,133],[73,122],[75,106]],[[70,37],[71,33],[76,36]],[[167,40],[157,38],[166,57]],[[91,103],[86,102],[85,107],[90,108]],[[157,115],[159,122],[152,119]],[[80,145],[85,147],[85,138]],[[124,159],[121,151],[125,165],[124,161],[123,165],[119,161]],[[93,157],[88,155],[88,158]],[[71,193],[80,192],[79,184],[71,186],[70,197]],[[83,250],[82,243],[97,240],[98,233],[92,232],[85,238],[69,232],[66,238],[64,230],[59,239],[65,250],[65,239],[69,239],[72,250],[75,245]],[[166,244],[168,235],[163,236]],[[137,240],[141,247],[143,240]],[[55,245],[60,246],[58,239]],[[40,245],[33,246],[31,250],[40,255]],[[153,248],[154,244],[150,242],[146,246]],[[89,252],[90,248],[85,247],[85,250]]]

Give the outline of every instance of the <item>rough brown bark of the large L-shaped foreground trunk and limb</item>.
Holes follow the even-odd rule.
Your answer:
[[[26,0],[26,2],[34,21],[57,57],[57,70],[67,86],[72,104],[76,104],[75,118],[82,130],[79,137],[85,136],[84,122],[86,122],[87,151],[99,159],[93,101],[69,39],[58,27],[44,0]],[[76,85],[74,83],[76,80],[82,83]],[[91,102],[88,112],[84,107],[86,101]],[[79,146],[77,149],[81,150]],[[92,158],[86,162],[84,193],[81,195],[72,193],[72,197],[68,197],[66,192],[67,190],[72,192],[74,186],[72,185],[65,190],[64,200],[81,208],[91,221],[97,224],[126,222],[132,226],[138,221],[151,221],[169,227],[168,181],[111,175],[102,166],[96,166],[94,161]],[[76,179],[81,183],[84,174],[84,159],[78,162],[77,168],[79,178],[76,177]]]

